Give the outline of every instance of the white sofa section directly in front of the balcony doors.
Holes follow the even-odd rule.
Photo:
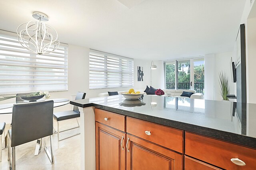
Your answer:
[[[192,92],[194,94],[192,94],[190,96],[190,99],[204,99],[204,95],[202,93],[196,93],[195,90],[174,90],[174,89],[163,89],[164,91],[164,95],[166,96],[172,96],[172,97],[182,97],[180,96],[183,91],[186,91],[186,92]],[[185,98],[189,98],[189,97],[185,97]]]

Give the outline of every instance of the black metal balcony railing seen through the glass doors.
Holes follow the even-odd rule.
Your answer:
[[[175,89],[175,83],[166,83],[166,89]],[[178,83],[178,89],[189,90],[190,83]],[[194,83],[196,93],[204,93],[204,83]]]

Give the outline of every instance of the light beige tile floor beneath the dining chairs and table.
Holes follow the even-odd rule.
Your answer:
[[[54,127],[57,129],[57,123]],[[60,122],[60,130],[76,127],[76,119]],[[72,136],[80,131],[80,128],[60,133],[60,138]],[[49,138],[46,144],[49,146]],[[80,135],[67,138],[58,142],[57,134],[53,134],[53,150],[55,163],[51,164],[42,145],[41,152],[34,156],[36,141],[22,144],[16,147],[16,170],[80,170]],[[9,170],[7,161],[7,148],[2,150],[2,162],[0,170]]]

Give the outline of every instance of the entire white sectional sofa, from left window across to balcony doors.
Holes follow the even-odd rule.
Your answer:
[[[140,91],[143,92],[143,89],[139,89],[139,90],[134,90],[134,91]],[[164,95],[168,96],[172,96],[172,97],[182,97],[180,96],[182,94],[183,91],[187,91],[187,92],[192,92],[194,94],[192,94],[190,96],[190,99],[204,99],[204,95],[202,93],[196,93],[195,90],[172,90],[172,89],[163,89],[164,91]],[[121,92],[127,92],[127,91],[118,91],[118,94],[120,94]],[[145,94],[147,95],[147,94]],[[106,93],[100,93],[98,94],[98,97],[104,97],[104,96],[108,96],[108,92]],[[184,97],[184,98],[189,98],[189,97]]]

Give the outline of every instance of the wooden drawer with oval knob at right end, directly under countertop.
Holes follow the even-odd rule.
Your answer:
[[[228,170],[256,169],[256,150],[189,132],[185,133],[185,154]],[[246,165],[238,166],[232,158]]]

